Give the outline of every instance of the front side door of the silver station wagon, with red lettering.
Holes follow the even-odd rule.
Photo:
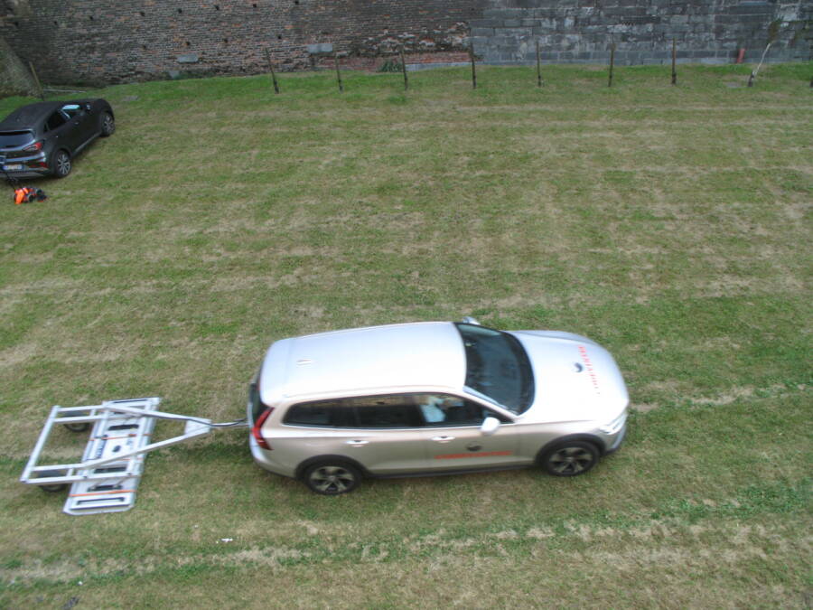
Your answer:
[[[448,394],[416,396],[424,418],[427,470],[499,468],[528,462],[519,455],[518,425],[469,399]],[[485,418],[502,422],[497,431],[481,432]]]

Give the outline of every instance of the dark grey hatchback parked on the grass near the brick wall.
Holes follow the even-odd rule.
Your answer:
[[[70,174],[73,159],[116,130],[104,99],[45,101],[17,108],[0,122],[0,169],[8,178]]]

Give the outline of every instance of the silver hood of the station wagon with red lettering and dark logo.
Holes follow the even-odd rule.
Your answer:
[[[630,402],[618,365],[586,337],[554,331],[511,331],[528,352],[535,397],[523,419],[609,421]]]

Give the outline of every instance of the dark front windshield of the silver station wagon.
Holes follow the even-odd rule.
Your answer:
[[[466,349],[466,385],[514,413],[530,407],[534,375],[519,341],[475,324],[455,324]]]

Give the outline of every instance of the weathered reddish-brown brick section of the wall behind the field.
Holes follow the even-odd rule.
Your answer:
[[[416,58],[465,50],[487,0],[0,0],[0,24],[43,82],[105,84],[303,70],[324,52]],[[32,43],[35,41],[36,43]],[[320,53],[322,52],[322,53]],[[384,60],[382,59],[381,62]],[[407,60],[410,61],[410,60]]]

